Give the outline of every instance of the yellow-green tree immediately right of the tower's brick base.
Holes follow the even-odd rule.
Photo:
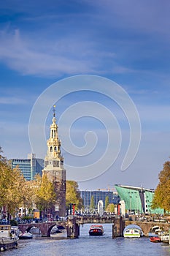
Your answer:
[[[82,208],[82,198],[76,181],[66,181],[66,209],[69,210],[70,203],[75,204],[75,209]]]

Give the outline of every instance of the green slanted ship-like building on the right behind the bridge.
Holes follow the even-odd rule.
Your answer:
[[[125,211],[134,214],[163,214],[163,209],[152,209],[154,189],[115,185],[120,200],[125,201]]]

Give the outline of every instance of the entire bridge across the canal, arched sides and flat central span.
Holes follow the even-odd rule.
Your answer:
[[[24,232],[31,230],[31,227],[38,227],[41,231],[42,236],[50,237],[50,232],[52,228],[57,225],[63,225],[67,230],[67,237],[77,238],[80,234],[80,225],[85,223],[111,223],[112,224],[112,237],[123,236],[123,230],[127,225],[136,224],[142,228],[144,236],[147,236],[150,232],[151,227],[158,225],[163,228],[163,230],[169,230],[170,223],[162,222],[135,222],[122,217],[72,217],[66,222],[40,222],[40,223],[30,223],[30,224],[19,224],[18,228]]]

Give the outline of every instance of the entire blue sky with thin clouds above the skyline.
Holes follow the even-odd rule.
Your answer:
[[[167,0],[2,1],[4,156],[45,158],[56,105],[67,176],[80,189],[155,189],[170,153],[169,7]]]

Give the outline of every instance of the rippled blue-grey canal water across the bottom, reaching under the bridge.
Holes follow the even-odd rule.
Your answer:
[[[4,256],[168,256],[170,246],[163,243],[151,243],[147,237],[112,239],[112,225],[104,224],[104,236],[88,235],[90,225],[80,227],[80,237],[66,239],[66,235],[54,238],[33,238],[19,240],[18,248],[0,252]]]

